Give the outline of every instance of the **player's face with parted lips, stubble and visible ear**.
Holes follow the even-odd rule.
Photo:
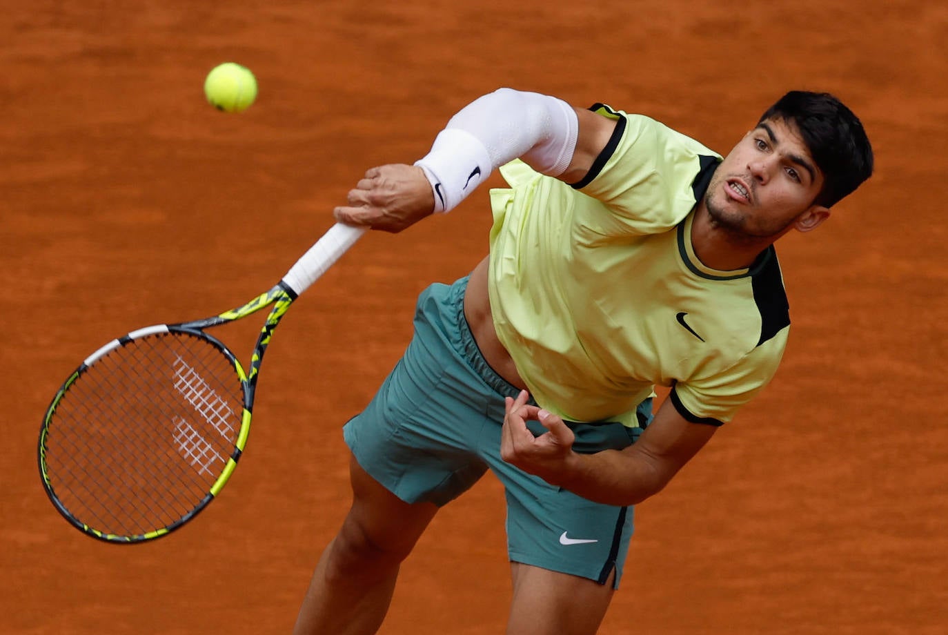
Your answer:
[[[747,238],[812,229],[830,215],[813,205],[823,174],[793,122],[768,119],[721,162],[705,205],[718,227]]]

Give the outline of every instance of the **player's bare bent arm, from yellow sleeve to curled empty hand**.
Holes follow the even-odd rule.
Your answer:
[[[693,424],[670,404],[659,409],[639,440],[623,450],[573,451],[573,431],[555,414],[526,403],[526,391],[507,398],[501,458],[585,499],[634,505],[660,492],[711,439],[715,426]],[[534,437],[527,420],[548,432]]]

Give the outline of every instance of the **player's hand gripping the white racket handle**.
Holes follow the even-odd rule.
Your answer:
[[[434,211],[434,193],[421,168],[392,164],[372,168],[349,191],[349,205],[333,210],[340,223],[398,232]]]

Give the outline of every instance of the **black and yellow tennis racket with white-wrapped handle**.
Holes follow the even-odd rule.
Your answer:
[[[243,306],[138,329],[89,355],[53,397],[40,429],[40,476],[59,513],[86,535],[137,543],[168,535],[207,507],[244,451],[274,329],[364,232],[337,224]],[[205,329],[270,305],[245,372]]]

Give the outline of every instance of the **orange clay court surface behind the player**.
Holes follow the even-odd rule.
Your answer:
[[[362,172],[425,154],[452,113],[502,85],[645,112],[725,153],[785,90],[829,90],[877,152],[830,223],[780,245],[784,364],[639,507],[601,632],[948,632],[944,3],[0,9],[0,632],[290,630],[349,504],[339,428],[402,353],[416,294],[482,257],[486,187],[447,217],[367,236],[294,306],[239,468],[177,533],[123,547],[70,528],[37,475],[41,418],[109,339],[269,288]],[[204,100],[226,61],[260,82],[243,115]],[[245,360],[250,321],[221,334]],[[502,632],[503,516],[489,475],[443,510],[382,632]]]

